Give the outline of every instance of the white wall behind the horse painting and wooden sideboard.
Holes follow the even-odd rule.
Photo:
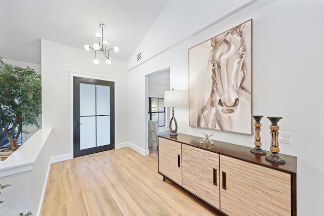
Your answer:
[[[256,1],[132,68],[129,98],[130,104],[137,103],[137,106],[130,109],[129,141],[142,145],[145,140],[145,121],[141,121],[147,110],[145,75],[170,66],[170,88],[183,91],[184,106],[175,109],[178,132],[199,137],[201,132],[214,132],[214,140],[254,147],[251,135],[188,126],[188,48],[252,18],[253,114],[283,117],[278,123],[279,132],[291,132],[293,144],[280,143],[280,153],[298,157],[298,215],[321,215],[324,202],[323,9],[324,2],[320,0]],[[204,19],[199,17],[199,11],[197,14],[196,18]],[[179,11],[178,16],[181,15]],[[160,41],[164,36],[155,40]],[[270,121],[264,117],[261,123],[262,148],[269,150]]]

